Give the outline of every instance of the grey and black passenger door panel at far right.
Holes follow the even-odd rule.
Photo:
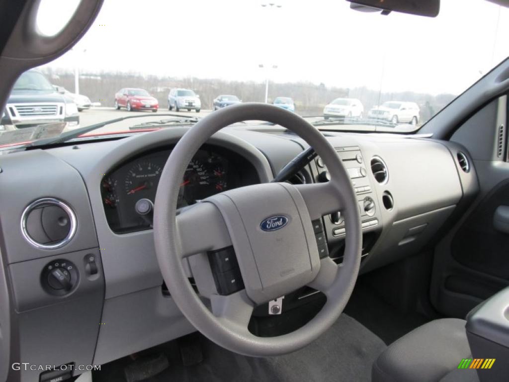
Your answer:
[[[468,150],[479,193],[435,249],[430,296],[446,316],[463,318],[509,285],[509,234],[494,223],[497,209],[509,207],[507,98],[484,106],[450,139]]]

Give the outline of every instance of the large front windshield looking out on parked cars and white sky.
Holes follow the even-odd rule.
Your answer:
[[[45,76],[90,99],[86,110],[77,105],[73,121],[62,117],[62,133],[97,126],[89,134],[100,139],[108,133],[133,134],[132,126],[167,118],[162,113],[203,118],[223,107],[214,102],[221,95],[222,100],[284,105],[324,130],[355,124],[359,132],[381,130],[374,126],[416,132],[509,56],[509,9],[486,0],[442,0],[435,18],[358,12],[344,0],[312,5],[196,0],[192,28],[188,2],[152,0],[147,7],[129,7],[126,1],[104,2],[71,50],[37,68],[42,74],[30,71],[16,82],[15,91],[51,90]],[[53,25],[59,17],[58,11],[49,12],[38,22]],[[136,31],[120,36],[126,25],[136,25]],[[237,33],[218,40],[221,34],[214,31],[225,26]],[[344,36],[340,30],[351,33],[330,37]],[[161,48],[163,40],[154,36],[173,43]],[[274,36],[291,38],[282,46]],[[119,89],[154,98],[122,97]],[[29,117],[17,121],[8,108],[5,114],[0,145],[41,136]],[[108,122],[125,116],[141,119]],[[164,126],[154,123],[154,128]],[[16,134],[8,139],[11,132]]]

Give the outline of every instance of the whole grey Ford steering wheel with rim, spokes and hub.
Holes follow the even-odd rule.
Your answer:
[[[331,180],[292,185],[263,183],[227,190],[177,214],[181,180],[196,151],[221,128],[246,120],[284,126],[321,156]],[[320,259],[312,221],[342,211],[347,227],[343,263]],[[262,223],[278,220],[277,230]],[[177,143],[161,173],[154,208],[155,249],[162,276],[175,303],[194,327],[213,342],[246,356],[295,351],[323,334],[342,313],[357,279],[362,239],[359,207],[334,148],[300,116],[263,103],[243,103],[215,111],[197,122]],[[193,290],[184,269],[186,257],[233,244],[245,289],[212,294],[209,309]],[[208,262],[202,262],[209,272]],[[208,268],[208,269],[207,269]],[[308,285],[327,301],[301,328],[276,337],[257,337],[248,329],[253,308]]]

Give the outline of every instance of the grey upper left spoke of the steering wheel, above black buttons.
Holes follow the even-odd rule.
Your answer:
[[[181,258],[232,245],[223,217],[212,203],[201,202],[185,208],[176,221]]]

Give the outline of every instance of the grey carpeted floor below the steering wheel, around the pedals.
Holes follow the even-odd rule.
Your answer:
[[[191,367],[182,365],[176,341],[158,347],[166,353],[171,366],[147,382],[370,381],[371,365],[385,349],[380,338],[346,314],[318,340],[285,356],[244,357],[203,336],[201,344],[204,360]],[[122,370],[129,362],[123,359],[103,365],[94,381],[123,381]]]

